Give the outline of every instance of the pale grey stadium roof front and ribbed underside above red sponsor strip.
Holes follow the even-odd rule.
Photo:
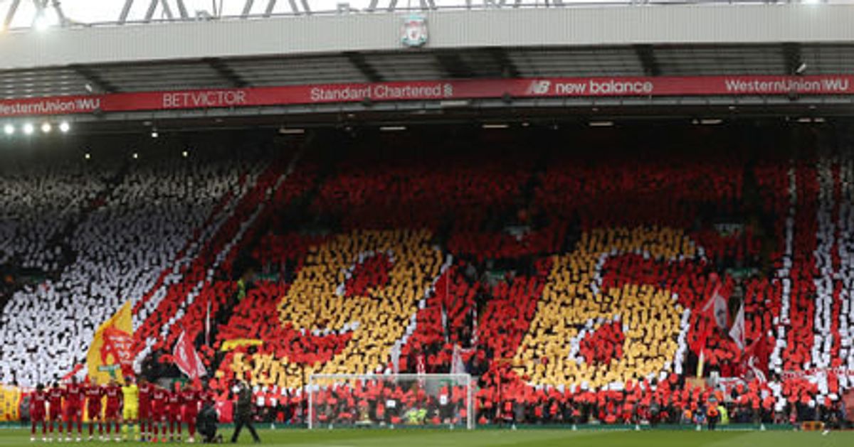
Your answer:
[[[126,4],[140,2],[149,3]],[[256,3],[266,2],[247,4]],[[279,3],[297,2],[268,4]],[[66,0],[62,10],[77,4]],[[7,84],[24,81],[13,85],[29,90],[24,97],[54,95],[66,79],[82,88],[79,78],[98,84],[101,77],[114,78],[115,90],[135,91],[372,78],[791,74],[802,58],[812,62],[811,74],[841,74],[851,72],[854,42],[854,3],[493,8],[424,17],[430,40],[422,48],[401,44],[401,15],[383,13],[19,30],[0,35],[0,73],[11,77]],[[34,88],[34,78],[52,90]]]

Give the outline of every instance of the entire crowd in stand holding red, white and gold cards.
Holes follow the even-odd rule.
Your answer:
[[[291,155],[140,161],[110,181],[118,169],[3,177],[22,197],[6,220],[61,212],[15,242],[4,239],[23,227],[0,222],[0,259],[59,270],[3,309],[0,380],[65,374],[131,300],[137,363],[170,363],[185,333],[213,390],[249,376],[284,421],[467,416],[456,388],[381,381],[309,390],[319,406],[306,414],[312,374],[395,372],[476,376],[480,423],[845,416],[844,156],[555,150],[538,163],[518,151],[354,149],[320,176],[318,160]],[[74,256],[63,264],[38,244],[66,228]],[[708,312],[716,297],[722,324]],[[687,380],[704,369],[722,379]]]

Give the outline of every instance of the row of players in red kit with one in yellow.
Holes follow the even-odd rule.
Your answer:
[[[190,435],[187,440],[195,442],[196,416],[204,403],[212,402],[211,396],[202,391],[201,386],[182,387],[176,383],[175,389],[169,391],[143,378],[139,379],[138,386],[131,377],[127,377],[125,382],[125,386],[119,386],[115,380],[107,385],[91,386],[72,377],[64,386],[58,383],[50,389],[45,389],[44,385],[37,386],[30,398],[30,440],[36,441],[36,429],[41,424],[43,442],[61,441],[63,428],[67,429],[65,440],[70,442],[76,422],[76,439],[80,442],[83,439],[85,404],[90,441],[94,439],[96,427],[102,441],[108,441],[111,436],[116,441],[127,440],[131,431],[137,440],[181,441],[182,425],[186,424]],[[106,405],[103,405],[104,400]]]

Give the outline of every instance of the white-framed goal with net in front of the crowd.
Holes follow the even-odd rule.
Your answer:
[[[312,374],[308,428],[474,428],[470,374]]]

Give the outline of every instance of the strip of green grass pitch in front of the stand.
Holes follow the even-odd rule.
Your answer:
[[[231,429],[220,430],[226,441]],[[289,445],[300,447],[478,447],[488,445],[506,446],[571,446],[571,447],[851,447],[854,432],[693,432],[693,431],[586,431],[568,429],[526,430],[260,430],[262,445]],[[51,443],[39,440],[30,443],[30,433],[21,429],[0,430],[0,446],[25,445],[158,445],[142,443]],[[249,432],[241,433],[240,444],[252,444]],[[174,444],[173,444],[174,445]]]

